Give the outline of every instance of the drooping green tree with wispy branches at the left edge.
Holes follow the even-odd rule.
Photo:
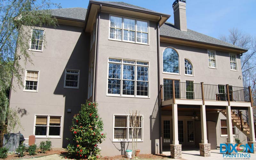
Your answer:
[[[51,15],[51,7],[59,7],[50,0],[0,0],[0,131],[6,131],[8,117],[13,114],[8,109],[9,92],[14,88],[12,81],[23,87],[21,64],[32,63],[28,51],[32,26],[57,25]],[[43,37],[45,39],[45,37]],[[33,63],[32,63],[33,64]],[[13,77],[13,78],[12,78]],[[14,114],[15,115],[15,114]],[[17,122],[9,121],[10,130]],[[1,137],[2,138],[2,137]]]

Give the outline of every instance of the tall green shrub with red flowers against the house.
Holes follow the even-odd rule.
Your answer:
[[[86,101],[76,114],[70,126],[72,141],[67,146],[68,158],[95,160],[100,154],[97,144],[102,143],[106,135],[103,134],[103,122],[98,115],[98,104]]]

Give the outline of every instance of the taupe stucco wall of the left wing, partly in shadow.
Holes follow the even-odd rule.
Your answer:
[[[33,64],[24,69],[39,70],[38,92],[24,92],[15,81],[12,90],[10,108],[20,115],[20,122],[25,129],[18,128],[25,138],[33,135],[35,115],[62,116],[61,138],[51,138],[53,147],[65,147],[70,138],[71,119],[80,109],[80,104],[87,99],[88,84],[88,39],[83,28],[60,25],[57,28],[43,28],[46,36],[46,48],[43,52],[32,52]],[[44,43],[45,44],[45,43]],[[79,89],[64,88],[65,68],[80,70]],[[25,70],[24,70],[25,72]],[[22,75],[24,79],[24,75]],[[67,109],[72,112],[68,113]],[[40,143],[47,138],[36,138]],[[28,143],[28,140],[25,141]]]

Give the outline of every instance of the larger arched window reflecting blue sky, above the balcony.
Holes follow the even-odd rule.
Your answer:
[[[172,48],[166,48],[163,53],[164,72],[179,74],[179,55]]]

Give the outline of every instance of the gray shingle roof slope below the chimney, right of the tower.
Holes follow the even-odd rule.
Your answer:
[[[168,37],[174,37],[174,38],[181,38],[186,40],[192,40],[192,41],[198,41],[203,43],[209,43],[209,44],[217,44],[222,45],[226,47],[232,47],[237,49],[243,49],[240,47],[237,47],[233,44],[221,41],[219,39],[213,38],[211,36],[206,36],[202,33],[198,33],[196,31],[188,29],[188,31],[181,31],[179,29],[174,28],[174,25],[169,22],[165,22],[160,27],[160,35],[161,36],[168,36]]]

